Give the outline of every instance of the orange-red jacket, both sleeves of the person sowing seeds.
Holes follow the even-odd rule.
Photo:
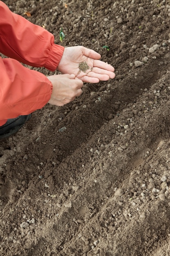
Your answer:
[[[0,1],[0,126],[7,119],[27,115],[50,99],[52,83],[46,76],[24,67],[46,67],[55,71],[64,47],[54,36],[22,16],[12,13]]]

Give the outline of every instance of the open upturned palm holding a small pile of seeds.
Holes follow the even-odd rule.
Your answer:
[[[104,61],[99,61],[101,55],[83,46],[66,47],[57,67],[62,74],[75,74],[86,83],[98,83],[115,78],[115,69]],[[87,70],[81,71],[80,63],[85,63]]]

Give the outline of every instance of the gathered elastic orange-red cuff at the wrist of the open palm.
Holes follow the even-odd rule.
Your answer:
[[[49,57],[47,58],[44,67],[50,71],[55,71],[62,58],[64,47],[62,45],[52,45]]]

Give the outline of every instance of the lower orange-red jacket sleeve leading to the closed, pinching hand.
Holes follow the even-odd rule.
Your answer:
[[[29,70],[11,58],[0,58],[0,125],[42,108],[50,99],[52,84],[44,74]]]

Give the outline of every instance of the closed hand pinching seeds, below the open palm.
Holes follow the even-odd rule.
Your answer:
[[[82,93],[83,82],[75,78],[74,74],[59,74],[47,78],[53,85],[50,104],[63,106]]]

